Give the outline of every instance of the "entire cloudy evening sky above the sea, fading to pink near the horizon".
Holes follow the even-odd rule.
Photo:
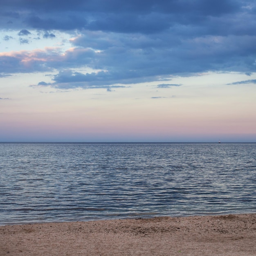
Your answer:
[[[0,142],[256,142],[254,0],[0,2]]]

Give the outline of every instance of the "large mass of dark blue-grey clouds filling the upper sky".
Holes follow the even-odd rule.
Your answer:
[[[43,38],[54,38],[58,30],[72,34],[73,48],[65,53],[0,56],[1,72],[52,71],[51,86],[58,88],[109,88],[208,71],[255,72],[253,0],[9,0],[1,3],[0,15],[5,21],[0,26],[9,28],[12,20],[10,27],[22,37],[31,29]],[[20,38],[20,43],[29,41]],[[101,71],[74,71],[81,67]],[[171,86],[180,85],[157,87]]]

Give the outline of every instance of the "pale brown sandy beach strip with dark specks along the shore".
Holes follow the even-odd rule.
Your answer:
[[[0,227],[0,255],[256,255],[256,214]]]

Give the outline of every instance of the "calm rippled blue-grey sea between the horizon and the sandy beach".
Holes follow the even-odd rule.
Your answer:
[[[0,144],[0,225],[256,212],[256,144]]]

